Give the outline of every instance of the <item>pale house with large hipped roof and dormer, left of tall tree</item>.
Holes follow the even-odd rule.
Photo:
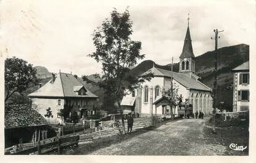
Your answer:
[[[64,122],[70,118],[72,111],[76,111],[81,119],[95,114],[97,96],[85,87],[82,79],[76,75],[61,73],[52,74],[52,79],[28,97],[41,115],[46,114],[46,109],[51,108],[53,118],[50,123],[59,124],[59,116],[64,109]]]

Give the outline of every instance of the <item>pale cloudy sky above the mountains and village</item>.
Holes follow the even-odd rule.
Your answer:
[[[50,72],[101,73],[87,57],[95,51],[92,33],[115,7],[129,6],[132,40],[142,42],[144,60],[160,65],[179,62],[189,28],[195,56],[219,47],[250,44],[255,30],[255,1],[1,1],[0,52],[19,57]],[[142,60],[139,61],[139,63]]]

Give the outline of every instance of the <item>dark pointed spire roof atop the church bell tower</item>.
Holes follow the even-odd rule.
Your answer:
[[[179,58],[195,58],[194,52],[193,52],[193,47],[192,47],[192,40],[190,37],[190,31],[189,31],[189,26],[187,26],[187,33],[186,37],[184,40],[184,45],[182,49],[181,56]]]

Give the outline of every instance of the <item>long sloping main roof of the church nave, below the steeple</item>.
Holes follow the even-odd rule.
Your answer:
[[[147,73],[153,73],[154,76],[158,76],[158,77],[167,77],[167,78],[171,78],[172,76],[172,72],[168,71],[168,70],[163,70],[161,68],[151,68],[150,70],[146,71],[145,73],[141,74],[140,76],[143,76]],[[192,76],[193,78],[189,78],[189,76],[187,76],[184,73],[176,73],[173,72],[173,79],[177,82],[179,82],[180,84],[184,85],[184,87],[186,87],[187,89],[196,89],[196,90],[205,90],[205,91],[211,91],[211,89],[209,87],[207,87],[207,85],[202,84],[202,82],[197,81],[197,79]]]

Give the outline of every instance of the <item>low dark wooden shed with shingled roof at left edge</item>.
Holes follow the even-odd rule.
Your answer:
[[[30,104],[6,105],[4,111],[5,148],[32,140],[54,137],[46,119]]]

